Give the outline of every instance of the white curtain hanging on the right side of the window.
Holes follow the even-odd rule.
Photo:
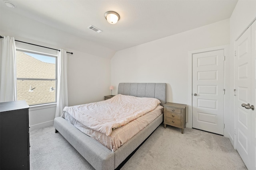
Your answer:
[[[58,83],[57,83],[57,106],[55,117],[62,115],[65,106],[68,106],[68,76],[67,66],[68,57],[67,51],[60,49],[58,51],[57,66],[58,66]]]

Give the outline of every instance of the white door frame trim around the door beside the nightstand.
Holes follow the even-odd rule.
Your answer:
[[[230,134],[228,134],[228,110],[229,110],[229,96],[230,96],[230,89],[229,89],[229,63],[230,63],[230,45],[221,45],[216,47],[210,47],[205,49],[198,49],[193,51],[188,51],[188,111],[187,111],[187,117],[186,117],[186,127],[192,128],[192,73],[193,73],[193,62],[192,62],[192,56],[196,53],[204,53],[209,51],[216,51],[216,50],[224,50],[224,56],[225,56],[225,62],[224,62],[224,88],[225,88],[225,95],[224,95],[224,137],[229,137]]]

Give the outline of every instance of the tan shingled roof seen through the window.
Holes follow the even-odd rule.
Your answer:
[[[16,51],[17,78],[55,79],[55,64],[44,63],[21,51]],[[35,88],[29,91],[30,86]],[[56,81],[51,80],[17,80],[17,100],[26,100],[28,105],[51,103],[55,101]]]

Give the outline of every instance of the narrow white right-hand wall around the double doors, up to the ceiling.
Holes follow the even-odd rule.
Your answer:
[[[230,17],[230,115],[228,125],[229,138],[234,145],[234,129],[235,129],[235,40],[248,27],[248,25],[256,18],[256,0],[239,0]]]

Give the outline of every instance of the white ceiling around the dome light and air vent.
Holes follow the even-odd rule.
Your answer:
[[[230,18],[237,3],[237,0],[9,1],[16,8],[8,8],[1,0],[1,31],[8,33],[11,29],[20,32],[19,36],[30,32],[34,38],[44,33],[36,40],[51,39],[54,35],[46,33],[46,27],[34,25],[42,23],[66,33],[73,44],[86,42],[89,48],[98,45],[110,53],[225,20]],[[107,11],[117,12],[120,20],[116,24],[108,23],[104,18]],[[21,17],[28,20],[20,21]],[[30,24],[30,21],[35,22]],[[28,31],[27,25],[33,30]],[[88,29],[90,25],[103,32]],[[56,41],[63,41],[57,34]],[[71,35],[79,37],[79,42],[72,41]]]

